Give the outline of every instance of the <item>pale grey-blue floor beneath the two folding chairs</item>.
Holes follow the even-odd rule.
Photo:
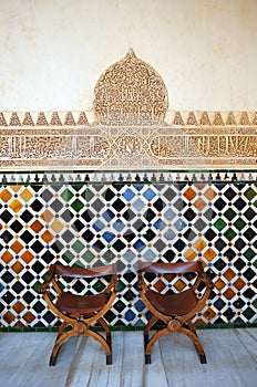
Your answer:
[[[99,343],[73,337],[55,367],[49,355],[55,333],[0,333],[0,386],[4,387],[256,387],[257,328],[201,330],[207,364],[184,335],[155,344],[144,364],[143,332],[113,332],[113,365]]]

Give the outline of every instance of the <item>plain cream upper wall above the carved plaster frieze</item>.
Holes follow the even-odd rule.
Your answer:
[[[256,0],[0,0],[0,111],[91,109],[128,48],[169,109],[257,109]]]

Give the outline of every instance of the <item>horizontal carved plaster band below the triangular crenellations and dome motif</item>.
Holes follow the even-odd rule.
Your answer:
[[[6,128],[1,168],[256,168],[256,127]]]

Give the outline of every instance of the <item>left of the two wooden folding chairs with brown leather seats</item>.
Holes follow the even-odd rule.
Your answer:
[[[73,294],[63,291],[60,279],[92,279],[104,278],[106,286],[96,294]],[[117,293],[117,278],[115,264],[102,265],[99,268],[71,268],[60,263],[51,264],[49,275],[41,286],[41,293],[49,308],[62,320],[55,344],[50,356],[50,366],[54,366],[61,345],[71,336],[91,336],[95,338],[106,353],[106,364],[112,364],[111,331],[103,315],[110,310]],[[55,300],[51,290],[58,293]],[[100,323],[106,333],[106,339],[102,334],[95,332],[92,325]]]

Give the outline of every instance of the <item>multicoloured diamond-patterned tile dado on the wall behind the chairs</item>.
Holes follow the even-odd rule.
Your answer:
[[[56,260],[70,265],[117,263],[120,294],[106,314],[112,326],[140,326],[148,318],[136,291],[138,259],[201,259],[215,289],[195,322],[256,323],[256,180],[150,182],[143,177],[20,184],[8,176],[0,189],[2,327],[58,323],[39,294]],[[80,293],[102,285],[66,284]],[[165,284],[157,279],[152,285]],[[175,285],[184,289],[186,280]]]

